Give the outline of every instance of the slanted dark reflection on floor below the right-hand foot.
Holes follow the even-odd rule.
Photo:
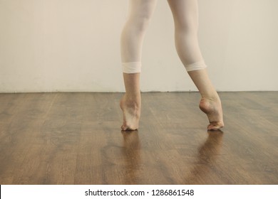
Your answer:
[[[222,148],[223,131],[208,131],[207,140],[199,147],[197,161],[184,181],[186,184],[206,184],[215,169],[215,161]],[[213,179],[208,179],[213,182]]]

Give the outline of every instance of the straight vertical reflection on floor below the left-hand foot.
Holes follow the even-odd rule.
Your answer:
[[[140,139],[138,131],[122,131],[125,160],[125,184],[137,184],[140,178]]]

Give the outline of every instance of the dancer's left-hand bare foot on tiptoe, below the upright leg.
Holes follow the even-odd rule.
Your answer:
[[[133,131],[139,127],[140,97],[135,100],[126,99],[126,95],[120,99],[120,108],[123,111],[123,131]]]

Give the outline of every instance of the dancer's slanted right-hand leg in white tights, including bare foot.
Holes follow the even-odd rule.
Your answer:
[[[224,127],[220,97],[207,75],[197,39],[197,0],[168,0],[168,4],[175,22],[177,53],[202,96],[200,109],[210,121],[207,129],[220,129]]]

